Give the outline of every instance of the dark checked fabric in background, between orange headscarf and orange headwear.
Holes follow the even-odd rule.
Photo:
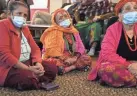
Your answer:
[[[114,11],[114,5],[108,0],[101,2],[95,2],[95,0],[84,1],[78,6],[78,11],[79,14],[85,14],[87,17],[99,16]]]

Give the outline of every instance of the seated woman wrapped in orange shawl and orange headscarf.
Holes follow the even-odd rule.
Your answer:
[[[85,54],[79,32],[64,9],[52,14],[52,26],[45,30],[40,41],[44,46],[43,59],[55,61],[60,75],[91,65],[91,58]]]

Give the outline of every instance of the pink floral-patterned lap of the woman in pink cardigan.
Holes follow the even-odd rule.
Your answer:
[[[98,76],[101,82],[113,87],[136,86],[136,78],[125,66],[120,64],[104,63],[101,65]]]

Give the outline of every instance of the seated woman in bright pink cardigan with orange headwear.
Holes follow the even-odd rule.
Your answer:
[[[97,65],[88,80],[99,78],[113,87],[137,85],[137,0],[120,0],[119,21],[111,25],[102,42]]]

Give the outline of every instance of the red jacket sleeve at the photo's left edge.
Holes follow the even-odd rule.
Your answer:
[[[0,28],[0,62],[13,66],[18,59],[11,54],[9,30],[3,22],[0,22]]]

